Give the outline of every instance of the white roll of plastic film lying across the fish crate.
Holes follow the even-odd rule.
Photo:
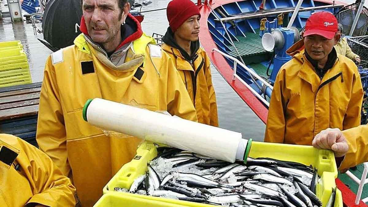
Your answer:
[[[234,162],[241,133],[95,98],[87,120],[100,128]]]

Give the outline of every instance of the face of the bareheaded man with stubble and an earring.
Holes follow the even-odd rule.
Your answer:
[[[83,0],[83,17],[87,31],[97,43],[109,43],[116,39],[127,10],[121,11],[118,0]]]

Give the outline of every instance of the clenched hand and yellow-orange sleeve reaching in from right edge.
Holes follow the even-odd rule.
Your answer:
[[[341,131],[326,129],[313,139],[313,146],[335,152],[339,169],[348,169],[368,162],[368,125]]]

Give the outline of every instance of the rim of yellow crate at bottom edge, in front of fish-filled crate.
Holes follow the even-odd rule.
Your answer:
[[[130,196],[129,193],[109,192],[104,194],[93,207],[189,207],[152,199]]]

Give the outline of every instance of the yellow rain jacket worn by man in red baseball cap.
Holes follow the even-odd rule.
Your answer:
[[[287,52],[293,56],[277,74],[273,87],[266,142],[312,145],[327,128],[360,125],[363,89],[353,61],[337,54],[322,80],[306,59],[302,40]]]

